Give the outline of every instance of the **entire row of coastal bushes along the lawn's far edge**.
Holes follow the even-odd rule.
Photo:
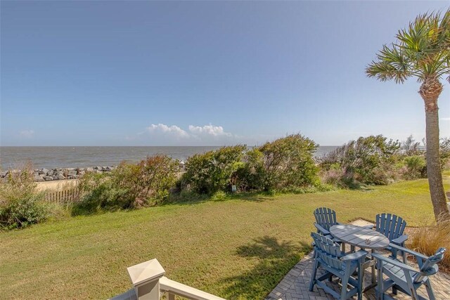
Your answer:
[[[443,169],[450,160],[449,141],[442,139],[440,147]],[[147,157],[137,164],[122,162],[110,171],[92,169],[79,176],[77,193],[63,206],[44,199],[28,166],[20,172],[9,171],[0,183],[0,227],[23,228],[61,214],[224,200],[248,193],[359,189],[426,178],[426,152],[412,136],[403,143],[382,135],[360,137],[329,152],[319,163],[314,161],[317,147],[311,139],[293,134],[255,148],[235,145],[193,155],[184,166],[166,155]],[[176,178],[179,171],[183,175]]]

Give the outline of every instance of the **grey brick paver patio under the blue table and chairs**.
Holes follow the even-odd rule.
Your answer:
[[[309,280],[311,279],[313,256],[312,252],[299,261],[292,270],[289,271],[285,278],[275,287],[275,289],[266,297],[266,300],[327,300],[334,299],[333,296],[327,294],[323,289],[314,286],[313,292],[309,292]],[[417,266],[416,266],[417,268]],[[370,268],[364,273],[366,285],[371,282]],[[321,271],[319,269],[318,274]],[[322,272],[323,273],[323,272]],[[435,292],[436,299],[449,300],[450,299],[450,276],[442,272],[431,277],[431,284]],[[328,285],[340,291],[338,282],[328,282]],[[392,290],[390,289],[390,292]],[[418,290],[420,296],[428,299],[428,294],[425,287],[420,287]],[[390,294],[394,299],[411,299],[410,296],[398,292],[397,295]],[[356,299],[356,296],[353,297]],[[375,289],[369,289],[364,293],[363,299],[375,300]]]

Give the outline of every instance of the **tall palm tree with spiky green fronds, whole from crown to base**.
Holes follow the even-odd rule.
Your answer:
[[[450,9],[441,14],[425,13],[399,30],[394,44],[384,45],[377,60],[366,67],[368,77],[404,83],[416,77],[418,93],[425,103],[426,159],[431,200],[437,221],[449,220],[439,162],[439,115],[437,98],[442,92],[439,79],[450,74]],[[450,76],[447,77],[450,81]],[[447,99],[448,100],[448,99]]]

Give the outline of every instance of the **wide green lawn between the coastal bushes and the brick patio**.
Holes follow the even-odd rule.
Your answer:
[[[432,218],[426,180],[77,217],[0,233],[0,294],[105,299],[131,287],[128,266],[157,258],[172,280],[226,299],[263,299],[309,250],[321,206],[342,222],[383,211],[409,226]]]

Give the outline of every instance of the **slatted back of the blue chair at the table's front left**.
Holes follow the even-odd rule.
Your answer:
[[[311,237],[316,247],[316,255],[331,268],[343,270],[340,258],[345,254],[340,251],[340,246],[319,233],[311,233]]]

